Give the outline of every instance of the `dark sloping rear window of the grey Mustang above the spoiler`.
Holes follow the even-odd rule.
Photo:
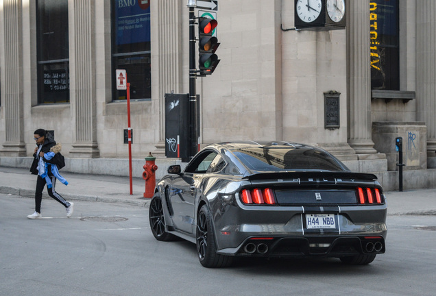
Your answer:
[[[310,147],[241,148],[233,153],[253,171],[344,171],[329,154]]]

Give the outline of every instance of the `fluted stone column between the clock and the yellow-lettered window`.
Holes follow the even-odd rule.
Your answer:
[[[347,4],[348,144],[357,154],[371,154],[370,0]]]

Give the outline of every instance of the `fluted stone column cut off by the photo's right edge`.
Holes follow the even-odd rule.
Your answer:
[[[427,126],[427,167],[436,168],[436,2],[416,1],[417,120]]]

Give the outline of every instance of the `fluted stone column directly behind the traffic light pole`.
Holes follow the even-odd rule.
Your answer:
[[[165,156],[165,93],[180,93],[182,90],[182,60],[183,53],[188,51],[182,50],[182,27],[185,21],[183,15],[186,15],[186,24],[189,23],[187,1],[166,0],[155,1],[150,7],[152,9],[152,64],[157,64],[152,69],[152,99],[154,100],[155,114],[160,114],[159,120],[159,142],[156,145],[157,150],[153,153],[156,156]],[[156,20],[153,18],[156,17]],[[188,37],[186,37],[188,38]],[[187,44],[186,40],[186,44]],[[189,59],[185,55],[186,61]],[[186,62],[186,65],[188,63]],[[186,68],[186,77],[189,69]]]

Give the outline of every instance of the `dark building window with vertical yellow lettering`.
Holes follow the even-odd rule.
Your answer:
[[[371,88],[400,90],[398,0],[370,1]]]

